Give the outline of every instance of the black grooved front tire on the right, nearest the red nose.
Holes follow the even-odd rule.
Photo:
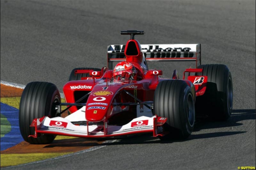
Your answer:
[[[157,85],[154,95],[154,113],[167,118],[164,129],[166,139],[186,139],[195,124],[194,98],[188,84],[183,80],[164,80]]]

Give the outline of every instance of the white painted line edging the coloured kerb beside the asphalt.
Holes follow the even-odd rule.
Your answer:
[[[20,89],[24,89],[26,86],[25,85],[20,85],[20,84],[16,84],[16,83],[10,83],[10,82],[7,82],[7,81],[2,81],[0,82],[1,84],[3,85],[8,85],[8,86],[11,86],[11,87],[16,87],[16,88],[20,88]],[[64,98],[64,95],[63,93],[60,93],[60,96]],[[105,141],[103,142],[104,143],[112,143],[112,142],[116,142],[117,140],[108,140],[108,141]],[[106,145],[102,145],[102,146],[93,146],[89,149],[85,149],[83,151],[78,151],[78,152],[75,152],[75,153],[70,153],[70,154],[67,154],[67,155],[63,155],[63,156],[60,156],[60,157],[55,157],[55,158],[49,158],[49,159],[44,159],[44,160],[39,160],[39,161],[35,161],[35,162],[30,162],[30,163],[26,163],[26,164],[21,164],[21,165],[17,165],[17,166],[26,166],[26,165],[30,165],[30,164],[35,164],[35,163],[40,163],[40,162],[45,162],[45,161],[49,161],[49,160],[53,160],[53,159],[61,159],[61,158],[66,158],[66,157],[69,157],[69,156],[72,156],[72,155],[78,155],[78,154],[81,154],[81,153],[85,153],[85,152],[91,152],[91,151],[94,151],[94,150],[97,150],[97,149],[100,149],[100,148],[103,148],[105,147]],[[8,166],[8,167],[4,167],[4,168],[13,168],[13,167],[17,167],[17,166]]]

